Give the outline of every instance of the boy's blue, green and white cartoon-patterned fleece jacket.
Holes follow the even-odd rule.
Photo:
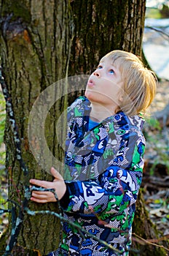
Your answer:
[[[68,108],[64,216],[94,238],[63,223],[63,241],[49,255],[128,255],[135,201],[144,167],[144,124],[119,112],[89,130],[90,102],[79,97]],[[117,252],[117,250],[118,252]]]

